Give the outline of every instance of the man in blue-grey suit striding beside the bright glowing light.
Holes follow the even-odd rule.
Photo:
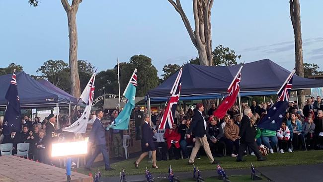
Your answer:
[[[105,163],[105,171],[111,171],[113,169],[110,167],[109,153],[106,148],[106,140],[105,140],[106,128],[103,126],[103,123],[101,122],[101,118],[103,117],[103,111],[101,109],[98,109],[95,111],[95,115],[96,115],[96,119],[93,122],[92,130],[89,138],[89,142],[92,144],[95,144],[95,151],[87,161],[85,165],[85,170],[90,171],[90,167],[93,164],[95,158],[100,153],[102,153],[103,160]]]

